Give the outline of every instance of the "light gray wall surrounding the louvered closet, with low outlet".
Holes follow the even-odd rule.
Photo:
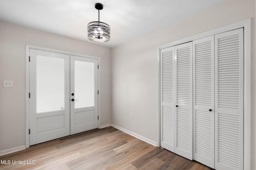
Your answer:
[[[114,47],[112,123],[156,141],[157,46],[248,18],[252,18],[252,169],[255,169],[255,0],[230,0]],[[134,114],[133,120],[130,114]]]

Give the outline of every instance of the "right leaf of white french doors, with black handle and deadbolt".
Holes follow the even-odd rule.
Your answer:
[[[70,134],[98,128],[98,60],[70,56]]]

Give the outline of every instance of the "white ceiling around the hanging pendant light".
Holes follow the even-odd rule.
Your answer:
[[[92,42],[87,24],[98,20],[94,4],[102,3],[100,21],[110,25],[111,38],[98,44],[115,47],[225,1],[0,0],[0,20]]]

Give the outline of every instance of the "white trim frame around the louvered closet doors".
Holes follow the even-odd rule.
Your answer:
[[[197,35],[193,35],[191,37],[186,37],[184,39],[180,39],[177,41],[172,41],[170,43],[166,43],[163,45],[159,45],[157,47],[157,141],[156,145],[160,147],[160,49],[164,49],[167,47],[171,47],[174,45],[179,45],[182,43],[186,43],[189,41],[193,41],[196,39],[208,37],[210,35],[215,35],[218,33],[223,33],[226,31],[230,31],[233,29],[244,28],[244,170],[251,169],[251,58],[252,58],[252,31],[251,31],[251,19],[239,21],[236,23],[232,23],[230,25],[226,25],[223,27],[219,27],[216,29],[212,29],[210,31],[206,31],[204,33],[200,33]]]

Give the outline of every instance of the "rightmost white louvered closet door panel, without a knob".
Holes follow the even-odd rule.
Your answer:
[[[243,28],[215,35],[215,168],[243,169]]]

